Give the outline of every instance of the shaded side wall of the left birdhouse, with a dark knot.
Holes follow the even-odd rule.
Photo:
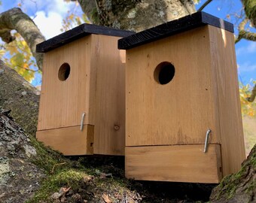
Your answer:
[[[92,35],[90,98],[95,100],[90,108],[95,111],[94,153],[98,154],[124,155],[125,55],[117,50],[118,39]]]

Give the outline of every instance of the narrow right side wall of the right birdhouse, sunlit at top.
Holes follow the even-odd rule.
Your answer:
[[[235,173],[245,159],[242,116],[233,33],[209,26],[216,107],[221,129],[224,175]]]

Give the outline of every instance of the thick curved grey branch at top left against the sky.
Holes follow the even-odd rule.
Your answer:
[[[33,56],[35,56],[38,68],[42,69],[43,54],[35,53],[35,46],[45,40],[38,27],[31,18],[24,14],[20,8],[12,8],[0,14],[0,37],[6,43],[14,41],[11,30],[17,30],[29,45]]]

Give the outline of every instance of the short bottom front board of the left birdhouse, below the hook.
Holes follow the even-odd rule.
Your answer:
[[[94,126],[84,125],[36,132],[38,141],[58,150],[64,155],[93,154]]]

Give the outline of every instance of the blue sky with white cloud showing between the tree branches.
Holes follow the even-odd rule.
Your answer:
[[[17,7],[20,2],[23,2],[23,11],[32,17],[47,39],[61,33],[62,19],[66,17],[68,11],[75,11],[81,14],[79,6],[76,6],[74,2],[66,3],[64,0],[2,0],[0,12]],[[205,1],[200,2],[197,8],[203,2]],[[237,19],[234,15],[240,14],[241,8],[240,0],[213,0],[203,11],[234,23],[236,28]],[[230,14],[230,19],[227,18],[227,14]],[[253,31],[256,32],[255,29]],[[237,34],[237,29],[235,34]],[[256,80],[255,56],[256,42],[242,40],[236,44],[239,80],[244,84],[251,83],[252,85],[252,80]],[[33,84],[38,85],[40,82],[41,77],[37,74]]]

